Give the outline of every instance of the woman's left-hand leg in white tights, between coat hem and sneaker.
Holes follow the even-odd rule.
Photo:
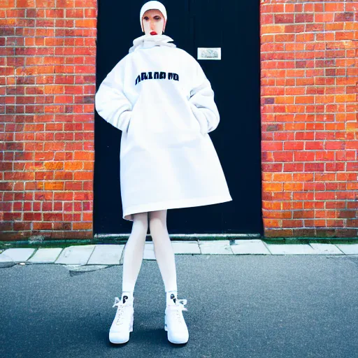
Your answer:
[[[148,213],[133,215],[131,235],[124,247],[122,292],[133,292],[143,262],[145,236],[148,231]]]

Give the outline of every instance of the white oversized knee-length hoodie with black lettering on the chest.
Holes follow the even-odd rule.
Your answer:
[[[196,59],[166,35],[143,35],[101,83],[96,110],[122,131],[123,218],[231,201],[208,136],[220,115]]]

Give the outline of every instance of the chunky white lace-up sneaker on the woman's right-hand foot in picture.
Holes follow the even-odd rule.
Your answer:
[[[168,331],[168,341],[171,343],[187,343],[189,340],[189,332],[185,323],[182,311],[187,310],[184,305],[187,304],[186,299],[176,299],[173,304],[166,305],[165,309],[165,326]]]

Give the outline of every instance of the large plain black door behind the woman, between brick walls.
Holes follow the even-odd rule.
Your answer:
[[[146,1],[99,0],[96,87],[142,36]],[[263,234],[259,113],[259,2],[161,1],[165,33],[197,58],[197,48],[221,48],[221,59],[197,59],[215,92],[220,124],[211,132],[233,201],[169,209],[170,234]],[[125,234],[120,196],[121,131],[96,113],[94,234]]]

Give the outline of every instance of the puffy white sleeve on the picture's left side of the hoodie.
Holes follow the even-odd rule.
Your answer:
[[[132,105],[123,93],[125,57],[118,62],[99,86],[94,99],[98,114],[121,131],[127,131]]]

